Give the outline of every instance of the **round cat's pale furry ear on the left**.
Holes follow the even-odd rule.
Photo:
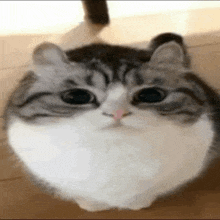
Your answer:
[[[32,54],[35,65],[63,65],[69,63],[66,54],[57,45],[52,43],[42,43],[37,46]]]

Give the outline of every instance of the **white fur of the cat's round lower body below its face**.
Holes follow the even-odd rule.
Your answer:
[[[140,209],[198,176],[214,135],[206,116],[185,127],[152,113],[126,117],[122,126],[97,117],[91,112],[40,126],[16,119],[8,131],[31,172],[90,211],[99,208],[82,198],[103,209]]]

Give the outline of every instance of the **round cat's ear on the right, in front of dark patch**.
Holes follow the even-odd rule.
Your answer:
[[[150,63],[176,63],[183,64],[184,52],[182,48],[175,42],[171,41],[158,47],[151,59]]]

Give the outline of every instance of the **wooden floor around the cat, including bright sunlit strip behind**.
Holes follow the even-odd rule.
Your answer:
[[[138,212],[87,213],[39,190],[12,160],[14,155],[8,151],[6,132],[2,129],[3,109],[26,72],[34,47],[43,41],[54,42],[63,49],[93,42],[146,48],[157,34],[175,32],[188,45],[193,69],[220,90],[220,1],[107,4],[110,24],[102,26],[85,22],[81,1],[0,1],[0,219],[219,219],[220,187],[196,188]]]

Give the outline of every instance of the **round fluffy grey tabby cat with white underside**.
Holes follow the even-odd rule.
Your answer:
[[[87,211],[140,210],[219,160],[219,97],[181,36],[146,50],[91,44],[33,51],[9,98],[9,145],[37,183]]]

